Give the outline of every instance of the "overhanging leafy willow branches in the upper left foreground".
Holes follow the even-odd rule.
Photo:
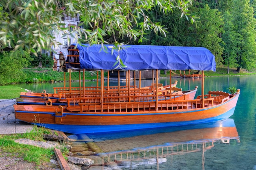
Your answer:
[[[61,43],[54,38],[54,33],[69,35],[70,30],[63,28],[63,23],[60,22],[63,13],[72,16],[79,14],[81,25],[90,28],[83,29],[80,25],[73,28],[70,35],[74,35],[78,42],[107,43],[103,37],[115,37],[115,31],[118,31],[120,37],[127,36],[142,42],[146,31],[165,34],[163,27],[158,22],[152,22],[145,11],[155,7],[163,14],[168,14],[177,8],[180,9],[181,16],[190,18],[193,22],[188,9],[191,4],[192,0],[63,0],[61,3],[58,0],[1,0],[0,7],[4,7],[2,10],[8,13],[8,17],[3,16],[0,20],[0,42],[4,47],[25,49],[34,55],[42,49],[51,51],[52,45]],[[139,22],[140,18],[144,20]],[[138,29],[134,29],[134,26]]]

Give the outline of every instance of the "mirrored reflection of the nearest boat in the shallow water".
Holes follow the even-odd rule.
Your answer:
[[[100,156],[115,161],[122,169],[140,166],[159,169],[160,164],[172,163],[175,155],[202,152],[204,170],[204,151],[213,148],[215,142],[229,143],[232,139],[240,142],[233,119],[180,127],[71,135],[70,138],[93,139],[104,152]]]

